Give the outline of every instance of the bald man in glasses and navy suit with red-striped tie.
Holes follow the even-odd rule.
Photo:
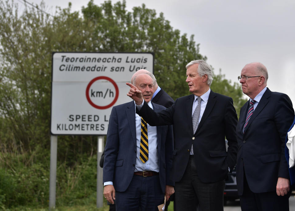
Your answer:
[[[286,94],[266,88],[267,69],[259,62],[247,64],[238,79],[243,93],[250,97],[241,108],[236,128],[242,211],[289,210],[289,172],[284,152],[285,137],[294,118],[292,102]]]

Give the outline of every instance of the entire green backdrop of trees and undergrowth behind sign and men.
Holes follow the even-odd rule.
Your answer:
[[[82,14],[71,4],[54,16],[0,0],[0,209],[47,207],[49,199],[51,55],[53,51],[154,52],[154,74],[174,99],[190,94],[185,65],[204,59],[194,35],[173,29],[163,13],[143,4],[89,1]],[[246,102],[238,83],[221,70],[211,89]],[[95,204],[96,137],[59,136],[57,206]]]

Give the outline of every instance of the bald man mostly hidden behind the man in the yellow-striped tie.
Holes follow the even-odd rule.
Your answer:
[[[142,74],[142,73],[148,74],[149,76],[151,76],[155,84],[154,94],[151,98],[151,102],[159,104],[159,105],[163,105],[166,108],[170,107],[174,103],[174,100],[169,96],[169,94],[167,94],[167,92],[165,92],[161,87],[159,87],[154,74],[152,74],[148,70],[144,70],[144,69],[137,70],[131,77],[131,83],[133,82],[133,78],[136,75]]]

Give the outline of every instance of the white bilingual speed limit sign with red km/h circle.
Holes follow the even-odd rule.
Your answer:
[[[152,53],[52,54],[53,135],[106,135],[112,106],[131,101],[132,75],[153,73]]]

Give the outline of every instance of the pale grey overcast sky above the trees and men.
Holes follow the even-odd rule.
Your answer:
[[[40,4],[41,0],[28,2]],[[55,6],[66,8],[68,2],[45,0],[46,12],[54,14]],[[72,11],[81,12],[89,1],[70,2]],[[94,0],[99,6],[103,2]],[[294,0],[126,0],[127,10],[143,3],[157,14],[163,12],[181,34],[194,34],[200,54],[208,58],[216,74],[222,69],[227,79],[238,82],[245,64],[262,62],[269,73],[267,87],[288,94],[295,104]]]

